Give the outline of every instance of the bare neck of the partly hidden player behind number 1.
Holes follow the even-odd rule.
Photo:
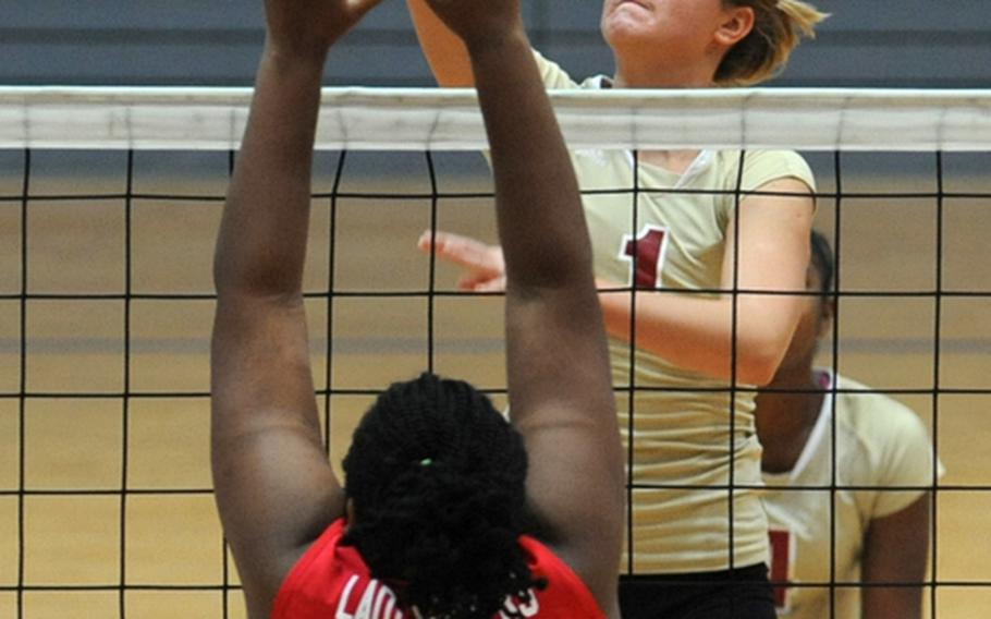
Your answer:
[[[795,468],[822,410],[825,398],[811,360],[782,368],[757,395],[755,418],[763,447],[761,468],[786,473]]]

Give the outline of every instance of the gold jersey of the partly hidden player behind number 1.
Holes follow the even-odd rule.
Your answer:
[[[836,387],[842,392],[836,393],[835,408],[832,395],[827,395],[795,468],[787,473],[764,474],[769,490],[763,500],[773,545],[771,579],[803,585],[775,590],[782,618],[828,619],[831,578],[837,582],[860,580],[864,537],[870,521],[907,508],[921,497],[920,487],[934,485],[934,477],[943,473],[939,462],[933,470],[929,434],[912,410],[880,393],[847,392],[866,391],[867,387],[842,376]],[[835,493],[794,489],[832,485],[834,460]],[[792,489],[775,489],[780,487]],[[836,520],[835,537],[832,518]],[[830,566],[832,560],[835,571]],[[817,583],[821,586],[812,586]],[[858,619],[859,593],[856,587],[836,587],[833,616]]]

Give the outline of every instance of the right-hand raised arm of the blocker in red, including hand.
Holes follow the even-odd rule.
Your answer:
[[[577,182],[516,0],[431,0],[467,43],[509,275],[511,416],[546,542],[615,612],[623,465]],[[553,247],[554,251],[548,251]]]

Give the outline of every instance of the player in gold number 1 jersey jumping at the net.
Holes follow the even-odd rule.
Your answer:
[[[423,0],[408,3],[438,82],[470,85],[464,48]],[[755,84],[822,17],[795,0],[605,0],[611,78],[579,84],[536,56],[551,88]],[[600,294],[613,380],[622,387],[633,374],[647,388],[633,396],[635,575],[623,583],[624,616],[773,617],[764,512],[755,490],[727,489],[761,483],[754,395],[732,387],[770,380],[797,324],[802,300],[787,292],[805,288],[811,172],[784,151],[651,151],[638,166],[625,151],[577,151],[572,160],[583,190],[627,191],[585,197],[600,289],[640,289],[633,360],[632,295]],[[636,214],[633,186],[643,190]],[[446,233],[420,244],[465,266],[466,289],[503,283],[498,247]],[[784,294],[717,292],[734,287]]]

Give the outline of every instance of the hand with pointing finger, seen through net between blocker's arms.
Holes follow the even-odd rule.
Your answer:
[[[441,231],[431,239],[428,230],[420,235],[417,246],[425,253],[432,251],[437,257],[465,269],[465,275],[457,281],[460,290],[505,290],[505,263],[502,259],[502,248],[498,245],[487,245],[477,239]]]

